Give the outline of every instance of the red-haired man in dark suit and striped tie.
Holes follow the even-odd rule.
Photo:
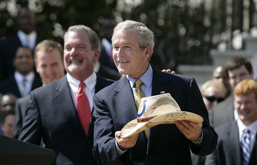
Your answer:
[[[235,86],[233,93],[238,119],[215,128],[218,144],[206,156],[206,165],[257,164],[257,83],[251,79],[242,80]],[[248,140],[244,136],[247,130]],[[247,145],[244,145],[245,142]],[[243,146],[249,151],[248,157],[244,156]]]

